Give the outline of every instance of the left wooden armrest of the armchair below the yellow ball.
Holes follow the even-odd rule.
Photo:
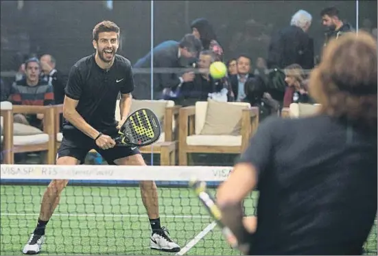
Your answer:
[[[186,144],[187,136],[194,133],[194,117],[196,106],[185,106],[180,108],[178,115],[178,143]]]

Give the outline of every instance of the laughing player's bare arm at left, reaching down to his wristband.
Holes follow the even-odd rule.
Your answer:
[[[73,100],[70,97],[64,97],[63,103],[63,116],[67,121],[69,121],[73,126],[84,132],[88,137],[92,139],[97,138],[99,131],[90,126],[84,118],[76,110],[79,101]]]

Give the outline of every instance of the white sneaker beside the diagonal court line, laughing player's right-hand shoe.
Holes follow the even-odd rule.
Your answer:
[[[180,251],[180,246],[171,240],[169,232],[164,226],[161,229],[153,231],[150,240],[150,248],[169,253]]]

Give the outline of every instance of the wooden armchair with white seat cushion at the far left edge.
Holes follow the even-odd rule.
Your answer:
[[[14,130],[13,115],[43,114],[43,131],[29,134],[18,134]],[[47,151],[45,162],[55,163],[54,141],[54,108],[51,106],[19,106],[10,102],[1,102],[1,117],[3,117],[3,135],[1,136],[4,155],[3,163],[13,164],[14,153]]]

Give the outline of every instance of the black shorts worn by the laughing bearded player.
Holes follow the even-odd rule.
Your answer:
[[[86,154],[91,150],[96,150],[101,154],[109,165],[115,165],[114,161],[116,159],[132,156],[134,154],[141,154],[137,147],[115,146],[108,150],[102,150],[90,137],[84,135],[80,131],[72,131],[63,133],[62,143],[60,143],[58,156],[56,156],[56,158],[59,159],[62,156],[72,156],[75,159],[78,159],[80,164],[83,164]]]

